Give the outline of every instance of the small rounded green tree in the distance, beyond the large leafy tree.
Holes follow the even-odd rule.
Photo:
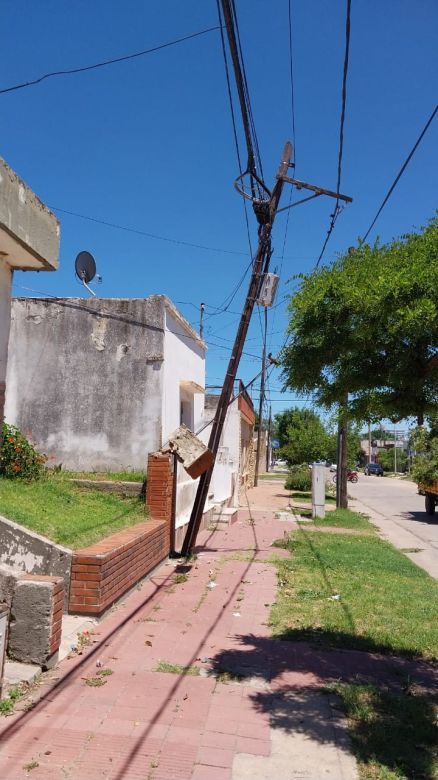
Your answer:
[[[280,454],[290,465],[328,457],[330,436],[319,415],[311,409],[286,409],[275,415],[274,425]]]

